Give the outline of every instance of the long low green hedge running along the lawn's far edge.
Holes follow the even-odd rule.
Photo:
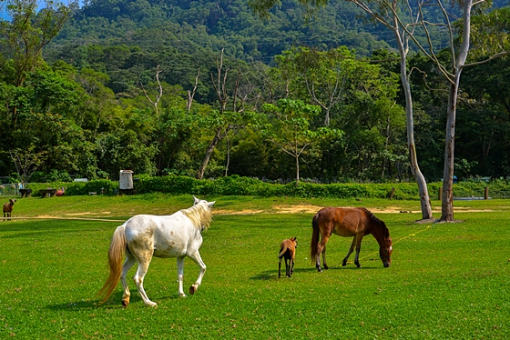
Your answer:
[[[429,183],[429,195],[438,199],[439,188],[442,183]],[[510,197],[510,183],[507,180],[496,180],[491,183],[461,182],[454,185],[454,197],[483,197],[485,186],[489,187],[491,197]],[[109,180],[94,180],[89,182],[72,183],[44,183],[30,184],[32,195],[40,195],[40,189],[47,187],[66,189],[65,195],[116,195],[118,182]],[[187,176],[168,175],[150,177],[141,175],[135,178],[134,190],[136,194],[165,193],[169,195],[257,195],[257,196],[293,196],[293,197],[335,197],[335,198],[387,198],[392,188],[395,188],[393,199],[419,199],[418,186],[415,183],[384,183],[384,184],[312,184],[295,182],[289,184],[274,184],[256,178],[231,175],[214,180],[199,180]]]

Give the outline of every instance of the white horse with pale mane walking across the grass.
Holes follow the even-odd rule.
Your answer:
[[[129,305],[128,283],[126,275],[129,268],[138,262],[137,274],[133,277],[138,292],[146,305],[157,306],[148,299],[143,287],[144,276],[152,256],[177,257],[177,270],[179,277],[179,295],[186,296],[182,289],[184,257],[189,256],[200,267],[199,278],[189,287],[189,294],[194,294],[202,283],[206,272],[199,248],[202,245],[201,232],[209,228],[212,220],[210,209],[216,202],[199,200],[193,196],[194,205],[188,209],[179,210],[173,215],[136,215],[128,219],[124,225],[117,227],[113,234],[108,251],[108,265],[110,275],[98,295],[103,295],[101,304],[104,304],[113,293],[119,280],[122,280],[124,295],[122,305]],[[126,255],[124,265],[122,260]]]

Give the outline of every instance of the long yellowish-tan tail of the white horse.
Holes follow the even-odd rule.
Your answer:
[[[103,298],[99,305],[107,302],[108,297],[112,295],[115,287],[118,284],[118,281],[120,280],[120,275],[122,275],[124,253],[126,251],[126,245],[128,245],[128,242],[126,241],[125,230],[125,225],[120,225],[113,233],[110,249],[108,250],[108,265],[110,266],[110,275],[108,276],[105,285],[103,285],[103,287],[97,293],[97,295]]]

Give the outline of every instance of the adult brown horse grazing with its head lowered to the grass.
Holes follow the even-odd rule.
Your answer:
[[[326,265],[326,244],[331,234],[343,237],[353,237],[349,252],[343,258],[342,265],[347,265],[347,260],[356,247],[356,256],[354,264],[360,267],[360,249],[362,248],[362,239],[364,235],[372,234],[379,243],[379,256],[384,267],[389,267],[392,263],[392,239],[390,232],[384,222],[372,215],[365,208],[333,208],[327,207],[319,210],[311,221],[313,232],[311,234],[311,261],[316,260],[316,267],[319,272],[321,269],[321,253],[324,269]],[[321,234],[321,242],[319,242]]]

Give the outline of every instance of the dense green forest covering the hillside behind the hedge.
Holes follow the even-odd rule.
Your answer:
[[[240,0],[33,4],[0,2],[12,5],[0,25],[0,176],[410,179],[391,33],[349,2],[307,15],[282,1],[269,20]],[[409,67],[417,155],[438,180],[448,85],[419,53]],[[459,178],[510,175],[509,73],[507,58],[464,70]]]

